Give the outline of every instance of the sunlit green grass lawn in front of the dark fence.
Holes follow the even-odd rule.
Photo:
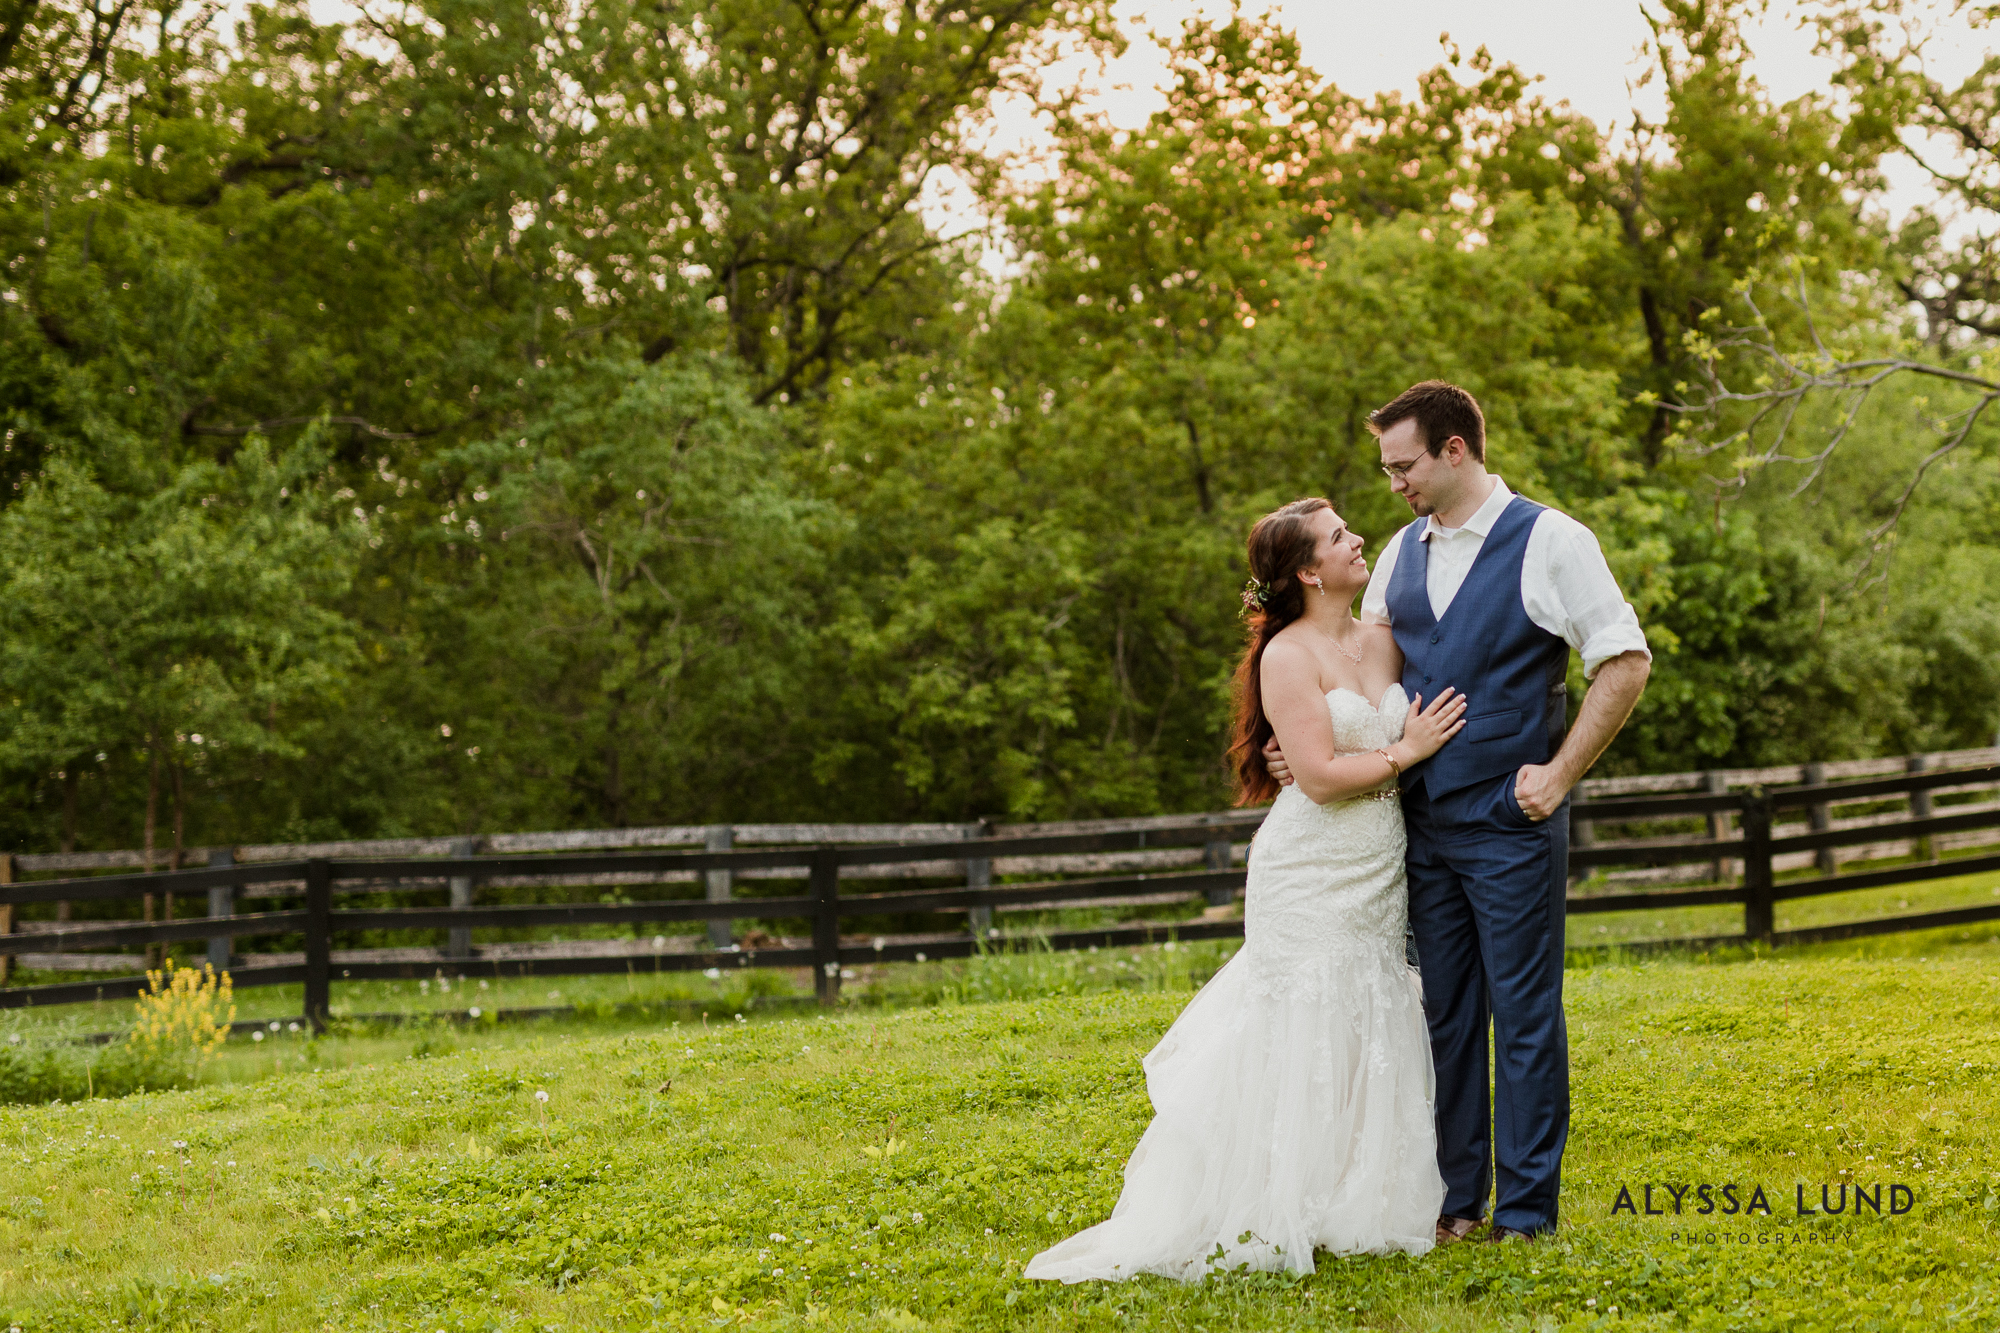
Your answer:
[[[2000,943],[1950,935],[1574,969],[1558,1237],[1304,1281],[1020,1279],[1116,1199],[1194,949],[932,965],[920,1009],[232,1041],[212,1087],[0,1109],[0,1327],[1988,1329]],[[960,1003],[1032,985],[1072,993]],[[1848,1181],[1914,1207],[1796,1215]],[[1700,1183],[1772,1215],[1612,1213]]]

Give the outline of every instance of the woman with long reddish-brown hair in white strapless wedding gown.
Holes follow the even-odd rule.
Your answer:
[[[1250,572],[1230,755],[1240,803],[1276,801],[1250,847],[1244,947],[1146,1057],[1154,1121],[1118,1207],[1028,1277],[1310,1273],[1316,1249],[1434,1245],[1444,1181],[1396,777],[1464,727],[1466,701],[1404,697],[1388,628],[1350,614],[1368,564],[1326,500],[1260,518]],[[1262,761],[1274,731],[1296,779],[1282,791]]]

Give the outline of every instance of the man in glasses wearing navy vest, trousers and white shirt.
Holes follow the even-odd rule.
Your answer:
[[[1448,685],[1468,699],[1466,729],[1402,775],[1410,927],[1438,1071],[1438,1243],[1484,1221],[1494,1163],[1488,1239],[1532,1239],[1556,1225],[1570,1133],[1568,797],[1632,715],[1652,654],[1590,528],[1486,470],[1472,394],[1412,384],[1368,428],[1390,490],[1418,520],[1376,558],[1362,620],[1394,632],[1412,699]],[[1570,648],[1592,681],[1574,727]],[[1276,741],[1266,761],[1290,783]]]

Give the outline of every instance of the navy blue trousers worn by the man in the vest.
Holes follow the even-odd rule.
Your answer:
[[[1438,1071],[1444,1213],[1484,1217],[1498,1165],[1494,1225],[1548,1231],[1570,1137],[1570,1035],[1562,1021],[1570,807],[1530,823],[1506,773],[1438,801],[1418,783],[1404,793],[1402,811],[1410,929]]]

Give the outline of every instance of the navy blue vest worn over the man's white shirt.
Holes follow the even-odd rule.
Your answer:
[[[1500,510],[1444,618],[1430,614],[1424,522],[1402,532],[1388,580],[1390,630],[1402,648],[1402,689],[1428,707],[1456,687],[1468,701],[1466,727],[1444,749],[1402,775],[1432,799],[1556,755],[1568,727],[1570,644],[1528,618],[1520,562],[1542,506],[1514,496]]]

